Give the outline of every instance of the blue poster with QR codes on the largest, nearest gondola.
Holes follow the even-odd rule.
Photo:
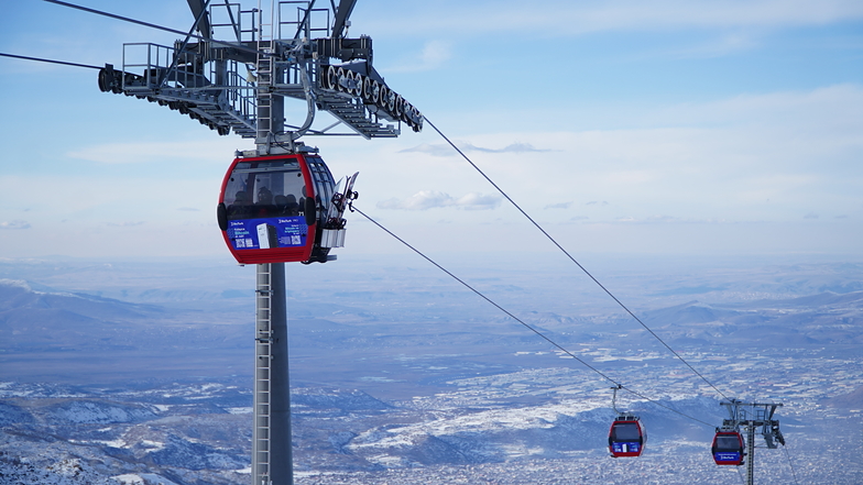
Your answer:
[[[308,225],[303,217],[229,221],[228,239],[236,250],[270,250],[306,244]]]

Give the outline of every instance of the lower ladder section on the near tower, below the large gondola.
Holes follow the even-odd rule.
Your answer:
[[[270,485],[271,377],[272,377],[272,267],[258,265],[255,290],[254,428],[252,430],[252,484]]]

